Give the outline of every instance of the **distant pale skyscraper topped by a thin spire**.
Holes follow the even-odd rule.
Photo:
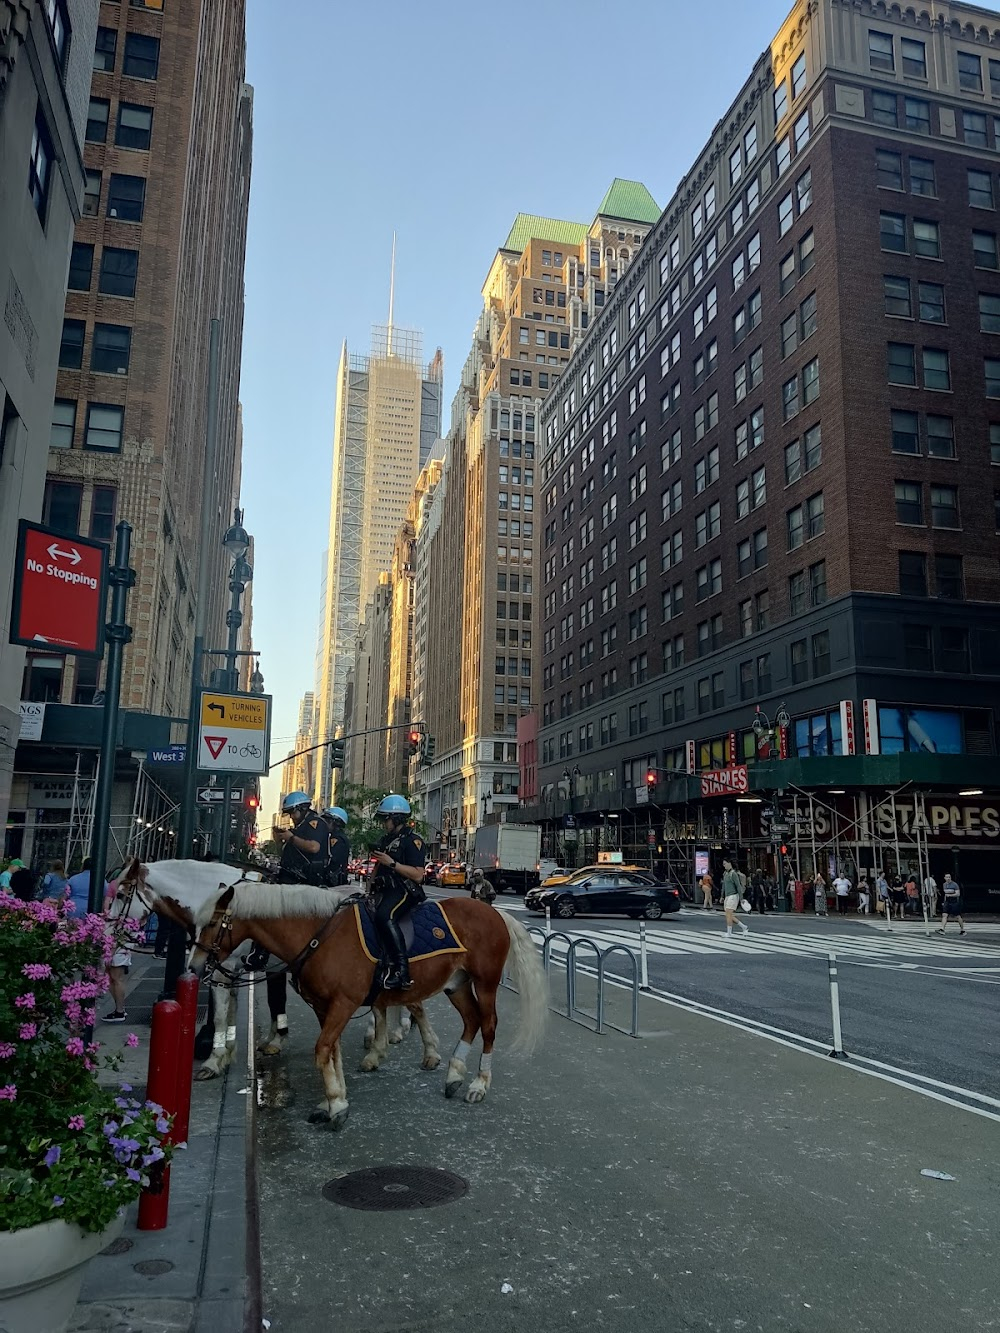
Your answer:
[[[361,612],[380,575],[391,569],[413,485],[441,433],[443,376],[440,348],[424,367],[420,335],[399,328],[392,317],[372,329],[368,356],[349,356],[347,343],[341,349],[317,655],[317,741],[344,725],[347,674]],[[333,774],[320,762],[316,798],[328,805],[332,790]]]

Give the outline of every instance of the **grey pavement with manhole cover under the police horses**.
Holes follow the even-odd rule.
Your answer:
[[[516,1004],[501,992],[480,1106],[443,1097],[416,1033],[359,1074],[352,1022],[335,1134],[305,1122],[316,1021],[292,1000],[285,1054],[257,1072],[272,1333],[1000,1328],[992,1120],[648,998],[640,1040],[553,1016],[516,1061]],[[441,1000],[429,1013],[447,1060],[457,1018]],[[392,1164],[457,1173],[468,1192],[400,1212],[323,1194]]]

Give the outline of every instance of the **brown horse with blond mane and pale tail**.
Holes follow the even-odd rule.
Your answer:
[[[548,1016],[548,986],[535,944],[520,921],[471,898],[448,898],[445,906],[463,949],[416,960],[411,965],[413,985],[404,998],[407,1005],[413,1005],[420,1021],[417,1006],[421,1001],[444,990],[461,1014],[461,1040],[448,1064],[447,1097],[461,1088],[472,1042],[479,1032],[483,1033],[479,1073],[465,1093],[465,1101],[477,1102],[483,1101],[492,1081],[496,992],[508,960],[520,992],[521,1025],[516,1045],[521,1049],[531,1050],[541,1037]],[[299,990],[320,1021],[316,1066],[327,1094],[309,1120],[343,1128],[348,1102],[340,1036],[364,1004],[373,973],[357,937],[353,912],[335,914],[325,889],[240,882],[208,904],[197,914],[196,926],[199,937],[189,962],[199,974],[223,962],[247,938],[284,962],[301,961]],[[400,998],[397,990],[383,990],[373,1008],[384,1020],[385,1009]],[[379,1028],[384,1032],[384,1021]],[[377,1069],[383,1054],[384,1040],[376,1036],[363,1068]]]

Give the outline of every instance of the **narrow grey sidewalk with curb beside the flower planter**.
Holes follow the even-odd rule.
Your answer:
[[[123,1026],[100,1025],[99,1040],[116,1049],[125,1033],[139,1048],[125,1052],[120,1078],[144,1093],[152,1005],[163,984],[163,960],[133,954]],[[199,1022],[204,1017],[201,990]],[[99,1009],[107,1013],[109,1005]],[[247,1090],[245,996],[240,997],[236,1058],[223,1078],[196,1082],[188,1148],[171,1166],[167,1228],[136,1230],[129,1209],[121,1240],[87,1269],[72,1333],[243,1333],[247,1304]],[[244,1093],[240,1096],[240,1093]]]

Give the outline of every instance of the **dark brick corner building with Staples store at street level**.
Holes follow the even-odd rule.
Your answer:
[[[995,13],[793,8],[543,409],[553,852],[995,892],[997,204]]]

